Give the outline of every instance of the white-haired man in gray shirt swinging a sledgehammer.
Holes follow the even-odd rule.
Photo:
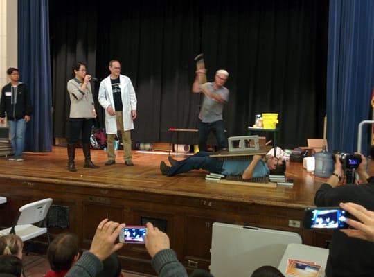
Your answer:
[[[206,151],[206,141],[210,132],[217,139],[218,148],[227,148],[226,134],[224,133],[223,109],[229,101],[229,89],[224,87],[229,73],[220,69],[215,73],[214,82],[199,83],[199,75],[205,75],[206,69],[196,71],[193,82],[193,93],[203,93],[204,101],[199,113],[199,150]]]

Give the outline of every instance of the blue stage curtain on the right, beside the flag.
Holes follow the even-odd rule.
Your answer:
[[[357,129],[370,119],[374,84],[374,1],[330,0],[327,116],[330,150],[357,150]],[[368,154],[364,128],[362,152]]]

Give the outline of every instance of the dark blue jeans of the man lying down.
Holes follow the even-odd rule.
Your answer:
[[[204,169],[209,172],[221,173],[223,161],[209,157],[211,152],[198,152],[182,161],[178,161],[176,166],[172,166],[168,172],[168,176],[174,176],[193,169]]]

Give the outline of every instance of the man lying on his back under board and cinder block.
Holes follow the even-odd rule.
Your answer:
[[[164,161],[160,163],[160,170],[163,175],[174,176],[184,172],[188,172],[193,169],[204,169],[209,172],[218,173],[222,175],[242,175],[242,179],[251,179],[254,177],[265,177],[273,173],[280,173],[283,169],[285,172],[285,161],[281,161],[272,156],[261,157],[260,155],[254,155],[249,159],[233,160],[227,159],[221,161],[209,157],[209,152],[198,152],[197,154],[188,157],[182,161],[172,159],[168,157],[171,166],[167,166]]]

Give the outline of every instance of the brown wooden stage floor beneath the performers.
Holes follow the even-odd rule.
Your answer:
[[[78,148],[75,158],[77,172],[66,170],[66,148],[63,147],[54,147],[53,152],[47,153],[26,152],[24,158],[25,161],[16,162],[1,157],[2,177],[19,181],[47,181],[50,184],[116,188],[293,208],[313,206],[314,193],[323,181],[309,175],[303,170],[301,163],[290,163],[287,167],[286,176],[293,179],[293,187],[255,188],[206,181],[204,170],[194,170],[176,177],[163,176],[159,164],[161,160],[167,162],[167,154],[133,152],[135,166],[128,167],[123,163],[120,150],[117,152],[116,164],[105,166],[106,152],[91,150],[92,161],[100,166],[95,170],[83,168],[84,157],[82,149]]]

